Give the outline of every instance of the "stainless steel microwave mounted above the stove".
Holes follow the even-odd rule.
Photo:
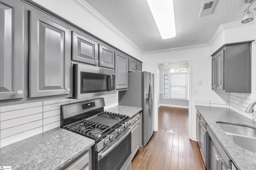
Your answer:
[[[116,71],[84,64],[73,65],[74,98],[116,93]]]

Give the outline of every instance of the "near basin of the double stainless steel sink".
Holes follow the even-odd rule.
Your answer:
[[[255,145],[256,138],[239,136],[239,135],[228,135],[228,136],[239,147],[242,147],[246,150],[250,150],[252,152],[256,152],[256,145]]]

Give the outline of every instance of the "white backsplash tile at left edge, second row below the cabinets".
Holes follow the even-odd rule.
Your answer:
[[[6,111],[3,113],[0,113],[0,120],[4,121],[4,120],[8,120],[8,119],[15,119],[18,117],[33,115],[33,114],[42,113],[42,112],[43,112],[42,106],[14,110],[14,111]]]

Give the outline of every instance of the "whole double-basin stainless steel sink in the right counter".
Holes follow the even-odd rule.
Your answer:
[[[243,125],[216,122],[238,146],[256,152],[256,129]]]

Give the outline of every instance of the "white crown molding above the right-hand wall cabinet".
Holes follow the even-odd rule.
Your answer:
[[[233,29],[233,28],[238,28],[238,27],[244,27],[245,25],[255,25],[256,20],[253,20],[252,22],[249,23],[241,23],[241,21],[236,21],[236,22],[231,22],[231,23],[224,23],[222,25],[220,25],[217,29],[217,31],[214,33],[214,35],[212,36],[212,38],[210,39],[210,41],[208,42],[209,45],[211,45],[216,38],[225,30],[227,29]]]

